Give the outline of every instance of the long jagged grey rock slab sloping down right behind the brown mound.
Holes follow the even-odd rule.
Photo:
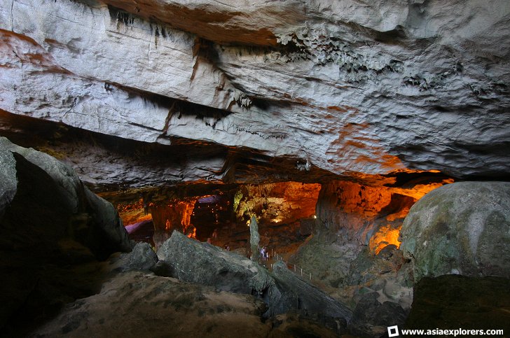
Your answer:
[[[265,316],[299,310],[342,321],[343,325],[338,325],[343,327],[350,320],[350,309],[287,271],[284,264],[275,264],[275,271],[270,273],[256,262],[179,232],[160,247],[158,258],[182,281],[258,295],[268,304]]]

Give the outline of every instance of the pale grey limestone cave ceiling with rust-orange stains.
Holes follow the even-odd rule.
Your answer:
[[[510,169],[505,1],[0,3],[7,113],[303,173]]]

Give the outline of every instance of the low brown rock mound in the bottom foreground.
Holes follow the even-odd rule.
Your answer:
[[[77,300],[37,337],[338,337],[295,315],[262,321],[266,306],[251,295],[219,292],[142,272],[118,274],[97,295]]]

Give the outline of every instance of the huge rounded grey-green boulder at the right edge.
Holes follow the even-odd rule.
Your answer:
[[[400,236],[415,281],[443,274],[510,278],[510,183],[432,190],[411,208]]]

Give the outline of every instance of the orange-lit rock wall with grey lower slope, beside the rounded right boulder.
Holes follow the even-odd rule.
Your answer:
[[[322,185],[313,237],[298,249],[294,262],[334,288],[351,284],[347,280],[354,273],[352,262],[358,256],[378,254],[390,245],[398,248],[399,230],[415,197],[441,183],[421,185],[418,190],[347,181]],[[365,272],[375,260],[367,258],[360,263],[354,266],[358,273]]]

